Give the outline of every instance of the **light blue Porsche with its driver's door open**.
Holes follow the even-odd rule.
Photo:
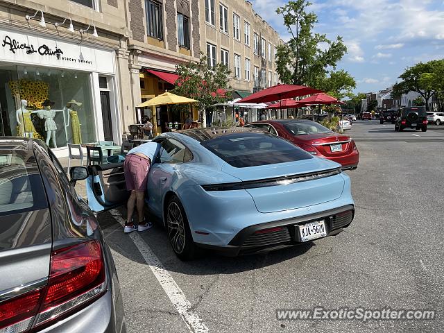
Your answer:
[[[327,237],[355,214],[341,165],[252,128],[164,133],[148,176],[146,205],[181,259],[197,248],[259,253]],[[128,194],[122,164],[89,167],[88,202],[101,211]]]

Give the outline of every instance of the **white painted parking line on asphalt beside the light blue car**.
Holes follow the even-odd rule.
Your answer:
[[[125,223],[125,220],[122,219],[118,210],[110,210],[110,213],[121,225]],[[171,303],[173,303],[183,321],[187,324],[189,331],[194,333],[210,332],[207,325],[200,320],[196,311],[191,310],[191,303],[187,300],[185,293],[183,293],[176,281],[173,280],[169,271],[165,269],[162,262],[160,262],[148,244],[146,244],[137,232],[131,232],[129,237],[133,240],[142,257],[144,257],[146,264],[150,266],[155,278],[157,278],[157,281],[159,281],[165,293],[167,293],[169,300],[171,300]]]

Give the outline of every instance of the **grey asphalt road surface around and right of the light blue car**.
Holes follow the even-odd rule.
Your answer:
[[[176,291],[182,302],[186,298],[191,304],[203,332],[442,332],[442,129],[395,133],[388,123],[353,123],[348,134],[361,155],[358,169],[348,172],[356,203],[352,225],[335,237],[267,255],[207,253],[194,262],[180,262],[162,228],[129,237],[118,223],[118,212],[101,214],[119,273],[128,332],[193,332],[169,298]],[[139,248],[135,239],[142,240]],[[159,269],[168,277],[162,278]],[[164,285],[171,280],[176,282],[172,291],[171,283]],[[276,309],[316,306],[432,309],[437,314],[433,321],[366,323],[276,318]]]

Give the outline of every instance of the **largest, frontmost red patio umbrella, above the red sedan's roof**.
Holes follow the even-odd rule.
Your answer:
[[[305,96],[322,92],[321,90],[306,87],[305,85],[275,85],[267,89],[255,92],[250,96],[241,99],[239,103],[266,103],[281,101],[282,99],[292,99],[293,97]]]

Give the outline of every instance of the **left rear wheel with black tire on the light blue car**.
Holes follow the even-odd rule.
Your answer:
[[[197,254],[196,244],[191,236],[187,215],[177,196],[173,196],[168,201],[165,220],[174,253],[184,261],[194,259]]]

